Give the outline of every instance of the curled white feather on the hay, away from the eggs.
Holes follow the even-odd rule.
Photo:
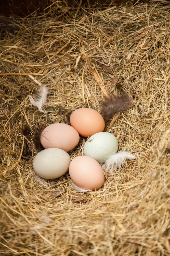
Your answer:
[[[45,113],[45,110],[42,110],[43,105],[47,101],[48,90],[45,86],[41,86],[40,93],[37,95],[37,100],[35,101],[31,96],[29,96],[29,100],[32,105],[37,106],[40,112]]]

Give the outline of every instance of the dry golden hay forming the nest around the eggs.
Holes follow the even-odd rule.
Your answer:
[[[1,255],[169,255],[170,7],[53,8],[18,18],[18,32],[1,38]],[[47,113],[29,102],[39,85],[28,74],[49,89]],[[136,159],[85,194],[68,173],[51,181],[35,176],[38,128],[69,123],[77,107],[100,111],[113,92],[132,95],[134,104],[105,119],[105,131]],[[81,137],[71,158],[82,147]]]

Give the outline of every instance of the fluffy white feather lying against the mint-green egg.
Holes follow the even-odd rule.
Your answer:
[[[135,158],[136,157],[133,154],[123,150],[123,151],[117,152],[114,155],[111,155],[107,159],[107,161],[103,163],[101,166],[103,170],[105,170],[106,172],[108,172],[109,170],[113,172],[114,169],[117,167],[120,169],[120,167],[126,163],[126,159],[135,159]]]

